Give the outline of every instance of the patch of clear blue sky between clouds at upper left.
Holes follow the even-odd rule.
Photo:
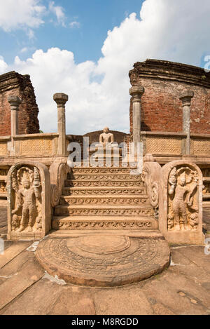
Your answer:
[[[2,0],[1,0],[2,1]],[[41,1],[48,8],[50,1]],[[51,1],[52,2],[52,1]],[[34,50],[58,47],[72,51],[76,63],[85,60],[99,60],[101,48],[109,29],[120,25],[130,15],[138,13],[141,0],[59,0],[54,6],[62,6],[64,25],[58,24],[53,13],[45,17],[45,22],[34,29],[34,38],[29,39],[24,29],[10,33],[0,29],[1,55],[8,63],[19,54],[27,59]],[[71,25],[72,22],[75,24]],[[21,52],[27,48],[27,51]]]

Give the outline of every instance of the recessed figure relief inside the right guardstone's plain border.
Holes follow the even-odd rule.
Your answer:
[[[168,229],[197,229],[197,171],[174,167],[169,174]]]

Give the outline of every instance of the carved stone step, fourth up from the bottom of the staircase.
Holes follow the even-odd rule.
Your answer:
[[[124,194],[124,195],[143,195],[146,194],[146,187],[64,187],[62,189],[64,196],[68,195],[104,195],[104,194]]]

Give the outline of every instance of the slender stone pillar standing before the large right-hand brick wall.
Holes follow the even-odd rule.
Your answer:
[[[193,97],[194,93],[192,90],[184,91],[179,97],[183,106],[183,133],[187,134],[186,155],[190,155],[190,105]]]

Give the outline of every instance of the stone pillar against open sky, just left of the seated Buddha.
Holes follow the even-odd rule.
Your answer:
[[[66,110],[65,104],[69,100],[69,96],[63,93],[53,95],[53,100],[57,103],[57,132],[59,133],[57,154],[59,156],[66,155]]]

